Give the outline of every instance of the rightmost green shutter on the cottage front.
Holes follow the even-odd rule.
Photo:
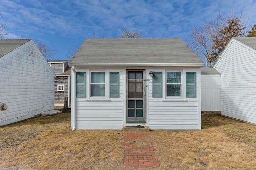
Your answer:
[[[186,97],[196,98],[196,72],[186,72]]]

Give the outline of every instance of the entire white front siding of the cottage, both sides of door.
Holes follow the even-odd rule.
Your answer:
[[[139,68],[137,68],[139,69]],[[174,68],[177,70],[176,68]],[[152,77],[148,72],[163,73],[163,88],[165,87],[165,69],[146,69],[147,95],[146,99],[146,126],[150,129],[201,129],[200,107],[200,68],[183,69],[183,93],[186,100],[186,71],[197,72],[197,98],[188,98],[186,101],[162,101],[163,98],[152,98]],[[76,68],[76,72],[86,72],[87,98],[75,98],[76,108],[72,110],[71,126],[73,129],[122,129],[126,123],[126,70],[125,69],[102,69],[108,72],[119,72],[120,75],[120,98],[110,98],[110,101],[89,101],[89,69]],[[168,69],[172,70],[172,69]],[[108,81],[108,80],[107,80]],[[72,78],[74,85],[74,77]],[[108,88],[108,87],[106,87]],[[74,91],[72,91],[74,92]],[[73,93],[73,97],[75,93]],[[199,97],[198,97],[199,96]],[[74,112],[75,127],[74,127]],[[135,125],[136,123],[134,123]],[[141,124],[141,123],[140,123]]]

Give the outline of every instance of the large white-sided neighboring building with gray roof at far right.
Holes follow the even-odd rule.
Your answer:
[[[256,124],[256,37],[234,37],[214,65],[222,115]]]

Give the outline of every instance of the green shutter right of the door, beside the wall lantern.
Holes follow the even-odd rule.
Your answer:
[[[154,72],[153,75],[153,98],[162,98],[162,72]]]

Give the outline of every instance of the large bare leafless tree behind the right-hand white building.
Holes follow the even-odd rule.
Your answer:
[[[215,18],[194,26],[187,43],[211,68],[228,41],[233,36],[244,35],[245,27],[241,21],[241,16],[237,18],[234,14],[218,14]]]

